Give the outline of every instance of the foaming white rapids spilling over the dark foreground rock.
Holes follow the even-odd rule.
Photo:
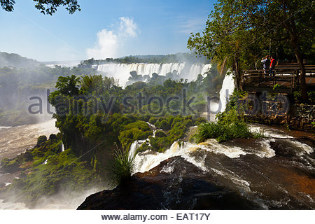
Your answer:
[[[251,125],[251,127],[258,128],[258,125]],[[263,130],[269,130],[269,127],[265,126],[262,128]],[[269,130],[270,132],[270,130]],[[283,133],[279,134],[279,132],[273,132],[274,136],[278,138],[286,139],[286,141],[291,142],[295,145],[298,151],[300,151],[300,155],[310,154],[314,152],[314,149],[307,144],[302,144],[299,141],[290,140],[293,137],[287,139],[288,135]],[[175,141],[172,146],[165,151],[164,153],[158,153],[154,151],[145,151],[144,153],[138,153],[134,158],[135,170],[136,172],[146,172],[150,169],[158,166],[160,162],[167,160],[169,158],[175,156],[181,156],[188,162],[193,163],[195,166],[200,167],[200,169],[207,171],[207,167],[204,166],[205,158],[196,158],[192,155],[195,151],[208,151],[209,153],[222,154],[227,156],[228,158],[239,158],[241,155],[255,155],[259,158],[272,158],[275,155],[274,150],[270,147],[270,142],[274,141],[274,139],[260,139],[257,141],[257,145],[255,148],[244,146],[231,146],[230,144],[219,144],[215,139],[208,139],[205,142],[200,144],[192,144],[188,142]],[[133,144],[133,148],[137,149],[144,141],[135,141]],[[133,153],[135,150],[132,151]]]

